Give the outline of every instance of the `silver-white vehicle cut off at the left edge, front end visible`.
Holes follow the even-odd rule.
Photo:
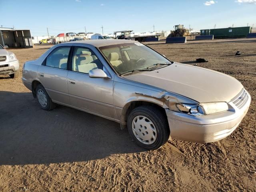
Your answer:
[[[0,45],[0,74],[9,74],[11,78],[19,76],[19,61],[13,52]]]

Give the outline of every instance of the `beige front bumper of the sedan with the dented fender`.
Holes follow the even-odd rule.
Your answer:
[[[207,143],[215,142],[229,136],[240,124],[246,115],[251,97],[242,108],[237,108],[232,102],[230,106],[234,110],[220,112],[211,115],[192,116],[166,109],[170,136],[174,139]]]

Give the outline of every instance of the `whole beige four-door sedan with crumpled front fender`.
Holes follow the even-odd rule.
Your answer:
[[[61,104],[114,120],[149,150],[169,136],[192,142],[225,138],[251,102],[235,78],[172,62],[130,40],[58,44],[24,64],[22,81],[42,109]]]

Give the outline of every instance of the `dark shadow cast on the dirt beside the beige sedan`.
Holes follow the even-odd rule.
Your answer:
[[[116,122],[72,108],[42,110],[31,93],[0,91],[0,165],[88,161],[144,151]]]

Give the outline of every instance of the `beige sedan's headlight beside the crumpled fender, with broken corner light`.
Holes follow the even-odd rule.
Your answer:
[[[176,107],[180,112],[184,112],[189,115],[209,115],[228,110],[228,104],[226,102],[212,102],[200,104],[177,103]]]

